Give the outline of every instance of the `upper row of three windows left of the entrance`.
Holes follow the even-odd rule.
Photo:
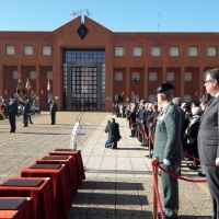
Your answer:
[[[5,46],[5,55],[13,56],[15,55],[15,46],[7,45]],[[33,46],[23,46],[23,55],[32,56],[34,55]],[[42,46],[42,55],[50,56],[51,55],[51,46]]]

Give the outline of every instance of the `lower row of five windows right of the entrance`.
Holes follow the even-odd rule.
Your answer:
[[[175,72],[166,72],[166,81],[175,81]],[[115,72],[114,74],[115,81],[123,81],[124,73],[123,72]],[[184,80],[185,81],[193,81],[193,72],[185,72]],[[140,81],[140,72],[131,72],[131,80],[132,81]],[[158,72],[149,72],[149,81],[158,81]]]

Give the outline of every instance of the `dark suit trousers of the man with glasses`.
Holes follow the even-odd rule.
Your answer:
[[[212,219],[219,219],[219,166],[205,165],[208,188],[212,199]]]

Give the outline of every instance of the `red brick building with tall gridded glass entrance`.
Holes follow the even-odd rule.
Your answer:
[[[42,110],[110,111],[116,101],[155,101],[163,82],[174,96],[199,101],[204,72],[219,66],[219,33],[115,33],[89,18],[53,32],[0,32],[0,96],[18,80]],[[51,89],[47,91],[47,83]]]

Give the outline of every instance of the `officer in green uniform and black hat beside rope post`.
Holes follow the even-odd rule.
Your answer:
[[[159,158],[160,165],[173,174],[177,174],[183,160],[183,146],[181,142],[181,112],[172,103],[172,89],[170,83],[163,83],[157,89],[159,107],[162,107],[155,125],[155,142],[153,159]],[[177,218],[178,212],[178,184],[177,178],[161,171],[164,197],[165,218]]]

